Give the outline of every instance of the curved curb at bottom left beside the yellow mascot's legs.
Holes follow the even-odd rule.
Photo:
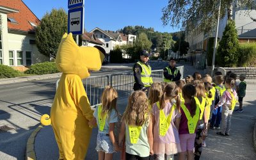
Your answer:
[[[28,138],[28,142],[26,145],[26,160],[36,160],[36,152],[35,152],[35,138],[36,134],[43,128],[43,125],[39,125],[36,129],[31,133]]]

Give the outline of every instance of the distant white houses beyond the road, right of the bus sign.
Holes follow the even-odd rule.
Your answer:
[[[90,33],[93,33],[95,37],[104,44],[102,47],[106,51],[107,56],[116,45],[132,44],[134,40],[136,40],[136,35],[125,35],[124,33],[119,33],[118,31],[104,31],[100,28],[92,29]],[[127,55],[123,56],[124,58],[127,57]]]

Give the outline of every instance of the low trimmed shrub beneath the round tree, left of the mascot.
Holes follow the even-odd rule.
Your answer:
[[[31,65],[29,70],[26,70],[26,74],[54,74],[58,73],[58,71],[55,62],[44,62],[44,63],[36,63],[35,65]]]

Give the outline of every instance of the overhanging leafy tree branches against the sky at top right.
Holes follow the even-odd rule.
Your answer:
[[[210,31],[212,26],[216,26],[216,19],[218,17],[218,4],[220,0],[186,0],[177,1],[169,0],[168,4],[163,8],[163,15],[161,17],[164,26],[171,24],[171,26],[182,25],[182,28],[195,28],[200,21],[200,27],[204,31]],[[221,0],[220,18],[222,19],[233,0]],[[252,0],[237,0],[234,7],[243,8],[246,10],[255,9],[255,1]],[[210,16],[211,15],[211,16]]]

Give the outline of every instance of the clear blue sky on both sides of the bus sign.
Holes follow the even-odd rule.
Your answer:
[[[68,10],[68,0],[22,0],[38,19],[52,8]],[[125,26],[144,26],[160,32],[179,31],[179,28],[163,26],[162,8],[168,0],[85,0],[84,28],[86,31],[99,27],[116,31]]]

